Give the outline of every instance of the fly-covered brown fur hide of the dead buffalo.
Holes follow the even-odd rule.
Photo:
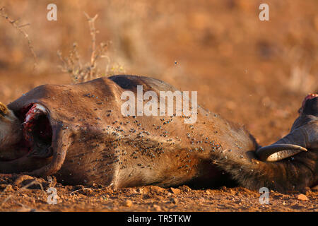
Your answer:
[[[201,107],[193,125],[182,117],[123,117],[120,107],[126,100],[120,96],[124,90],[136,93],[136,85],[143,85],[143,92],[176,90],[153,78],[112,76],[78,85],[42,85],[12,102],[8,107],[16,114],[34,102],[47,108],[54,154],[46,160],[0,162],[0,172],[10,168],[54,174],[66,184],[114,187],[192,182],[206,187],[231,179],[250,189],[290,191],[317,182],[317,150],[294,161],[259,162],[257,143],[244,128]]]

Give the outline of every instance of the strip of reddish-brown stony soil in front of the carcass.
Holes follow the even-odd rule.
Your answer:
[[[269,192],[261,204],[257,191],[242,187],[194,190],[139,186],[111,189],[107,186],[63,186],[54,178],[0,177],[1,211],[317,211],[318,191],[304,194]],[[51,182],[51,183],[50,183]],[[47,192],[47,189],[54,188]],[[54,196],[56,192],[57,196]],[[263,199],[262,199],[263,200]]]

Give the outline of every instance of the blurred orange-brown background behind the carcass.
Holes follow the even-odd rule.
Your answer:
[[[57,21],[47,20],[57,4]],[[269,21],[259,5],[269,5]],[[28,40],[0,17],[0,97],[16,100],[42,84],[69,84],[63,57],[76,43],[90,61],[86,12],[96,44],[107,43],[98,76],[117,73],[159,78],[198,91],[199,104],[244,124],[261,145],[281,138],[307,93],[318,92],[317,0],[10,1],[0,2]]]

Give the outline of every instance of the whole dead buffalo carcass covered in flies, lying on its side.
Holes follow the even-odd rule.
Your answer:
[[[198,107],[184,116],[122,116],[123,91],[176,91],[140,76],[76,85],[41,85],[0,105],[0,172],[54,174],[65,184],[114,188],[265,186],[301,191],[318,182],[318,97],[308,95],[290,133],[259,147],[244,128]]]

